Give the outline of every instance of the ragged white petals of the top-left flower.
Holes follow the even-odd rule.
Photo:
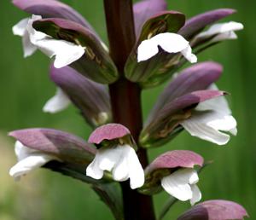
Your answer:
[[[40,49],[50,58],[55,56],[55,67],[61,68],[79,60],[84,55],[84,48],[75,43],[51,38],[43,32],[38,32],[32,27],[35,20],[42,19],[39,15],[32,15],[32,19],[21,20],[13,27],[15,35],[22,37],[24,56],[32,55]]]

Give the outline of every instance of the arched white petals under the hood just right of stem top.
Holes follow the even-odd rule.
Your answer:
[[[177,33],[160,33],[153,38],[143,40],[137,49],[137,61],[147,61],[159,52],[159,48],[164,49],[167,53],[180,52],[189,62],[195,63],[197,57],[192,54],[189,42]]]

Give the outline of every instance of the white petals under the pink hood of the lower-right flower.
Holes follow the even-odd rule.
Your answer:
[[[191,206],[201,200],[201,191],[196,186],[199,181],[194,169],[183,168],[161,179],[161,185],[177,200],[190,200]]]

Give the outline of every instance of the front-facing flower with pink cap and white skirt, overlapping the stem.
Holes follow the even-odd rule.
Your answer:
[[[130,131],[122,124],[105,124],[97,128],[89,138],[90,143],[100,146],[95,159],[86,168],[86,175],[101,179],[104,171],[112,172],[118,182],[130,178],[132,189],[144,183],[144,171],[137,158]]]

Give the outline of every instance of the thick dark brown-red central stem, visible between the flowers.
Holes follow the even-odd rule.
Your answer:
[[[131,0],[104,0],[110,55],[118,67],[120,79],[109,85],[113,121],[124,124],[135,141],[143,127],[141,88],[124,78],[125,61],[135,43]],[[139,147],[139,146],[138,146]],[[148,165],[147,152],[138,148],[143,167]],[[131,190],[129,182],[121,183],[125,220],[155,220],[152,197]]]

